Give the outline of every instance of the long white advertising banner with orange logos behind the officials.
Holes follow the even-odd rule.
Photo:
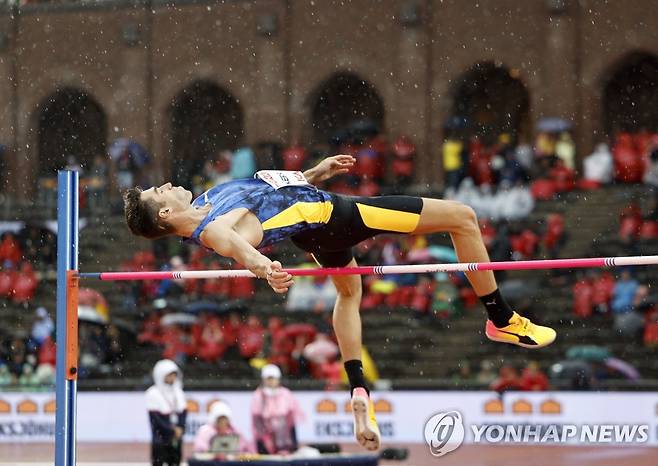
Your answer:
[[[187,392],[186,439],[192,440],[213,402],[233,411],[233,424],[251,438],[249,392]],[[347,392],[294,392],[305,420],[301,442],[351,442]],[[657,393],[379,392],[373,401],[384,443],[440,442],[455,423],[464,443],[637,443],[658,445]],[[0,393],[0,442],[54,439],[53,393]],[[458,429],[459,430],[459,429]],[[81,392],[80,442],[148,442],[142,392]],[[461,435],[461,434],[460,434]],[[439,440],[437,440],[439,439]]]

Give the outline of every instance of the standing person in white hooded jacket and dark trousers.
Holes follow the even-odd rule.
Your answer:
[[[154,385],[146,390],[146,409],[151,423],[153,466],[178,466],[181,461],[187,401],[183,373],[169,359],[153,367]]]

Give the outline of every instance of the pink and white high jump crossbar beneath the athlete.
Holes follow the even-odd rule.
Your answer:
[[[658,265],[658,256],[594,257],[579,259],[546,259],[529,261],[471,262],[451,264],[413,265],[366,265],[358,267],[297,268],[283,269],[292,276],[335,276],[335,275],[392,275],[406,273],[476,272],[501,270],[550,270],[600,267],[623,267],[631,265]],[[80,278],[117,280],[170,280],[195,278],[239,278],[255,277],[249,270],[188,270],[156,272],[95,272],[80,273]]]

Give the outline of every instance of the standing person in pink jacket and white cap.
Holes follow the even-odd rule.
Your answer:
[[[261,371],[263,383],[251,399],[253,437],[258,453],[286,454],[297,450],[295,424],[303,413],[292,392],[280,384],[281,369],[268,364]]]

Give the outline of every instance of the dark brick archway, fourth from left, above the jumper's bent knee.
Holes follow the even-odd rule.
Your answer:
[[[485,139],[530,131],[530,96],[509,68],[478,62],[453,82],[451,116],[464,118],[469,131]]]

